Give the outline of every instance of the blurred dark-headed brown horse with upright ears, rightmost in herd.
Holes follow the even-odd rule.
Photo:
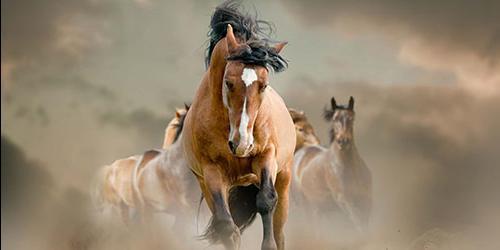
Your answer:
[[[294,194],[314,214],[339,210],[363,231],[372,207],[371,172],[354,142],[354,98],[347,106],[331,98],[324,118],[331,123],[330,146],[304,146],[295,154]]]

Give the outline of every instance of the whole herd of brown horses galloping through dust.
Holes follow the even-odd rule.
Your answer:
[[[192,104],[176,110],[162,149],[100,169],[93,197],[102,212],[125,224],[164,212],[182,227],[205,200],[212,218],[202,236],[226,249],[239,248],[257,213],[262,249],[284,249],[290,199],[313,217],[341,211],[366,228],[372,184],[354,143],[354,99],[331,99],[330,143],[320,145],[304,112],[269,86],[269,72],[287,67],[279,54],[286,43],[268,39],[269,27],[235,1],[216,7]]]

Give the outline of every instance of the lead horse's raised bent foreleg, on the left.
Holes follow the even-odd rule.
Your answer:
[[[218,166],[206,166],[203,173],[203,195],[212,212],[205,236],[212,242],[222,241],[226,249],[239,249],[240,230],[229,212],[227,183]]]

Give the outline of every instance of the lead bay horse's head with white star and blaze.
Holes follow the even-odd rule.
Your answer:
[[[253,149],[255,120],[269,85],[268,58],[277,55],[286,43],[273,48],[239,43],[231,25],[227,27],[226,43],[229,56],[222,83],[222,101],[229,117],[228,145],[237,157],[247,157]],[[274,56],[275,56],[274,55]]]

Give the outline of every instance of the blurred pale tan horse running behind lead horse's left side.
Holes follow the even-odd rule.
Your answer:
[[[190,201],[196,189],[191,187],[196,182],[185,166],[178,140],[187,109],[187,106],[177,109],[167,126],[165,138],[172,138],[173,143],[164,144],[168,149],[148,150],[101,169],[100,183],[94,192],[101,210],[119,213],[125,224],[133,215],[146,216],[159,211],[175,215],[177,219],[192,211],[196,202]]]

